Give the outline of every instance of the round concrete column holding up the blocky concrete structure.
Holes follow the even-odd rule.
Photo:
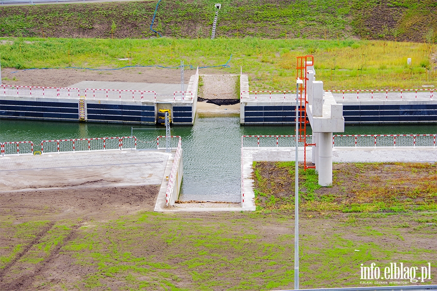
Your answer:
[[[332,132],[320,132],[319,142],[319,185],[332,185]]]

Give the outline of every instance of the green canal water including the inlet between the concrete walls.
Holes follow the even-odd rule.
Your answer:
[[[138,143],[165,135],[155,126],[134,126]],[[158,129],[158,130],[154,130]],[[347,126],[343,134],[436,134],[436,125]],[[198,118],[192,127],[173,127],[182,137],[184,179],[181,199],[240,200],[242,135],[294,134],[294,126],[240,126],[239,117]],[[311,134],[311,130],[308,130]],[[0,142],[130,136],[131,125],[0,120]]]

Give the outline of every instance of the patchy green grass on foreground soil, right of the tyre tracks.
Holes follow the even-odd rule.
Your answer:
[[[292,288],[293,231],[272,232],[271,227],[287,229],[293,222],[278,215],[237,216],[212,214],[197,219],[145,212],[82,227],[77,238],[62,248],[61,255],[76,259],[74,264],[88,271],[76,282],[67,283],[66,288],[74,283],[84,290],[112,289],[111,282],[128,290]],[[435,215],[418,217],[428,221]],[[403,219],[418,224],[411,218]],[[367,226],[365,218],[353,220],[352,229],[349,223],[341,225],[329,219],[302,222],[302,288],[359,286],[361,263],[387,265],[403,260],[420,266],[436,255],[435,250],[413,247],[414,240],[390,248],[386,242],[375,240],[382,234],[390,242],[402,241],[405,235],[411,239],[425,233],[425,228],[409,233],[407,227],[393,225],[388,217],[378,219],[375,226]],[[426,229],[436,232],[433,226]],[[325,230],[330,234],[320,237],[319,232]]]

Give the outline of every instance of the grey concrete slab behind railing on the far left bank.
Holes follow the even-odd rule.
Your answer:
[[[68,88],[155,91],[158,100],[173,100],[173,93],[181,91],[181,84],[82,81],[72,84]],[[184,84],[184,91],[187,88],[188,84]]]

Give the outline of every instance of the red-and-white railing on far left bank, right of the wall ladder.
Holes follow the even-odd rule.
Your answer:
[[[116,90],[116,89],[85,89],[85,98],[99,100],[123,101],[155,101],[155,91]]]

